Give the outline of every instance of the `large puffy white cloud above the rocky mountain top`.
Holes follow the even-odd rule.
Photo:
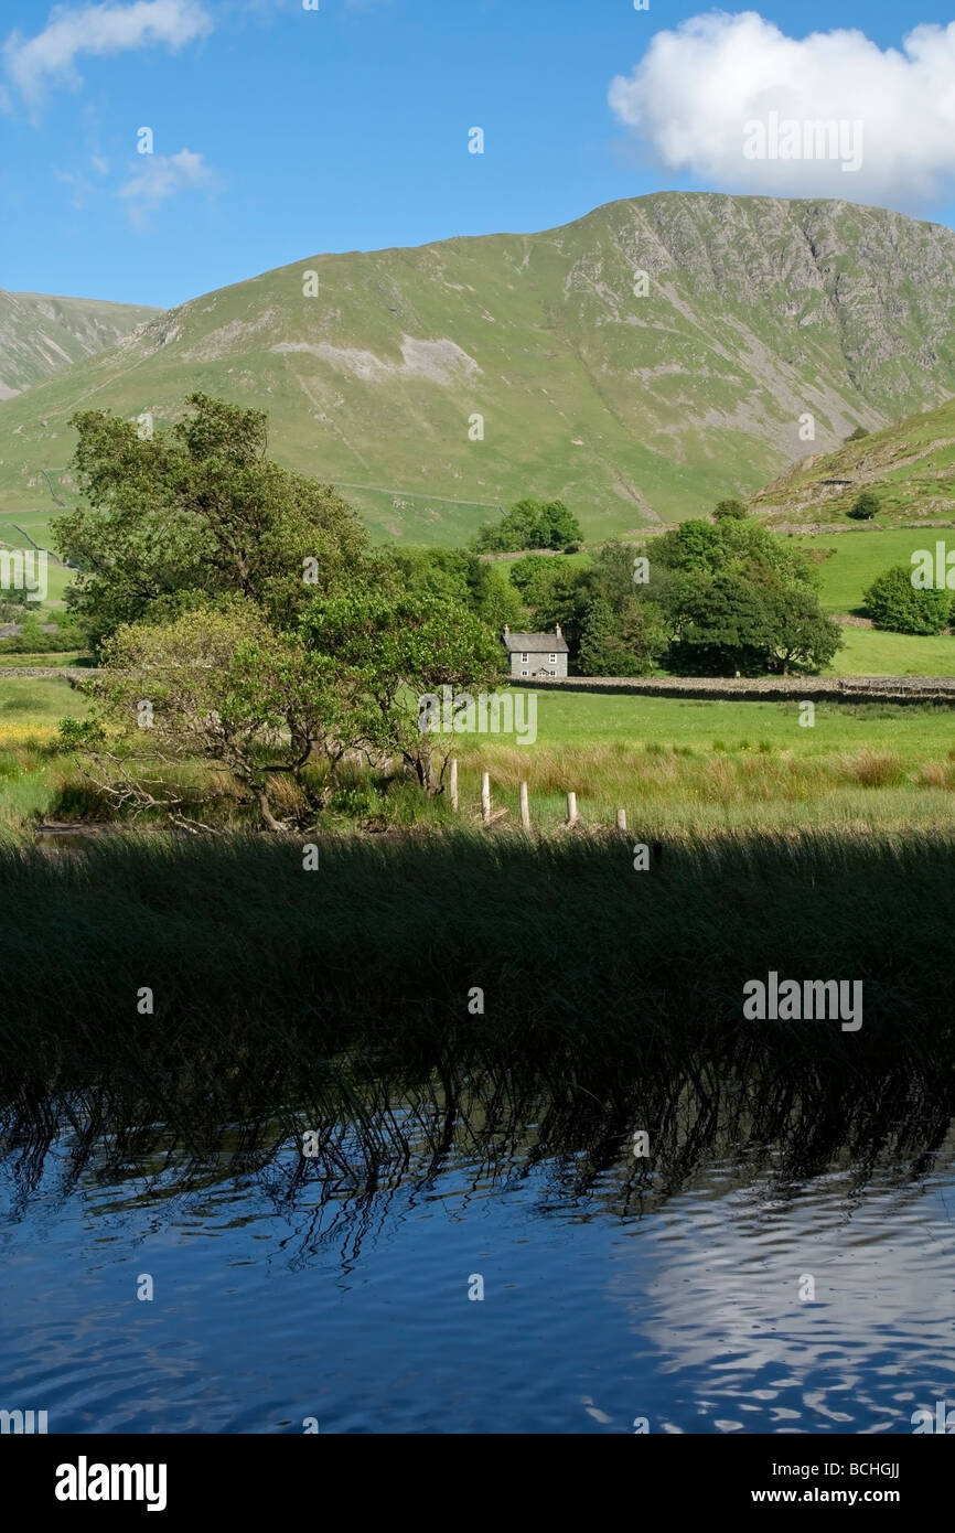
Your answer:
[[[720,190],[914,205],[955,181],[955,23],[917,26],[883,52],[858,31],[791,38],[756,11],[696,15],[658,32],[609,100],[665,166]],[[779,158],[771,113],[780,130],[799,124],[788,146],[777,138]],[[845,124],[834,158],[806,136],[820,121]],[[766,158],[743,153],[747,140],[759,149],[756,123],[770,129]],[[855,123],[861,162],[843,170]]]

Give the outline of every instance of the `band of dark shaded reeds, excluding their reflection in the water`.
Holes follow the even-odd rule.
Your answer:
[[[938,932],[955,915],[955,834],[690,837],[644,872],[612,834],[328,837],[319,858],[307,872],[300,842],[258,835],[0,848],[6,1044],[100,1053],[144,1029],[201,1038],[215,1016],[307,1027],[317,1047],[327,1029],[627,1049],[717,1027],[858,1059],[869,1039],[892,1053],[952,1038]],[[742,984],[768,969],[865,980],[863,1033],[743,1024]],[[141,986],[155,1021],[136,1021]]]

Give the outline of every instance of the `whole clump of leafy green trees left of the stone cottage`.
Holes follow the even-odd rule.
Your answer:
[[[103,412],[77,422],[95,509],[60,523],[84,570],[74,610],[100,647],[100,707],[126,762],[159,763],[149,788],[130,770],[98,786],[182,819],[166,765],[199,759],[270,829],[311,822],[356,751],[400,754],[432,788],[414,698],[498,678],[495,630],[518,615],[517,592],[475,553],[372,555],[337,495],[268,461],[264,414],[189,403],[143,442]]]

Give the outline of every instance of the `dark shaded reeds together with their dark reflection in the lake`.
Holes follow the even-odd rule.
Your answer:
[[[314,871],[291,839],[143,834],[0,843],[0,1154],[26,1180],[64,1127],[74,1171],[262,1168],[314,1127],[314,1170],[376,1187],[535,1125],[584,1187],[645,1127],[659,1194],[720,1145],[904,1164],[955,1110],[952,832],[671,839],[642,872],[570,831],[323,837]],[[861,980],[861,1029],[745,1019],[770,970]]]

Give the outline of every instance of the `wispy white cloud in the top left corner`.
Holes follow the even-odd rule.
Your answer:
[[[135,0],[133,5],[60,5],[37,37],[11,32],[3,44],[9,81],[37,109],[54,84],[77,84],[81,54],[124,54],[166,43],[182,48],[212,32],[199,0]]]

